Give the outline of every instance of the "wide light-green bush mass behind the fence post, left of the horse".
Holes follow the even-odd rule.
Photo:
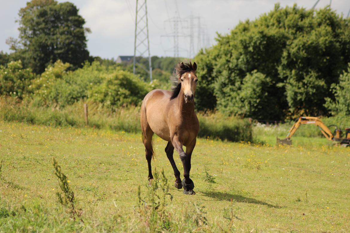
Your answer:
[[[83,68],[68,71],[70,64],[58,60],[31,82],[30,90],[37,106],[62,108],[80,100],[91,100],[105,107],[139,105],[153,86],[138,76],[107,68],[98,61],[85,63]]]

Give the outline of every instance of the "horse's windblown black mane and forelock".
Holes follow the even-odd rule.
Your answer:
[[[195,73],[197,68],[196,66],[197,65],[195,65],[194,67],[193,64],[191,64],[191,61],[188,63],[182,62],[182,63],[176,64],[174,75],[170,78],[173,82],[172,96],[170,97],[170,100],[175,99],[181,91],[181,80],[180,80],[181,76],[187,72]]]

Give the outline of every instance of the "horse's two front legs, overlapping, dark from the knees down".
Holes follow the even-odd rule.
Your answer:
[[[186,153],[183,151],[182,144],[180,143],[180,140],[177,137],[174,137],[173,141],[173,146],[177,152],[179,152],[180,159],[183,165],[183,176],[184,180],[182,181],[182,186],[183,186],[183,193],[184,194],[196,194],[193,191],[194,183],[190,179],[190,170],[191,170],[191,155],[193,152],[193,149],[195,148],[196,145],[196,139],[194,139],[190,145],[186,147]]]

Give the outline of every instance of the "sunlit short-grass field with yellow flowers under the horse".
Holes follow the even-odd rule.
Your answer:
[[[156,137],[153,170],[164,169],[173,195],[165,210],[176,222],[165,229],[182,232],[195,216],[191,223],[207,221],[187,231],[350,232],[350,149],[321,138],[295,137],[292,147],[260,140],[270,145],[198,139],[197,194],[189,196],[173,186],[166,142]],[[0,144],[0,232],[152,230],[137,207],[138,187],[142,197],[149,191],[140,134],[0,122]],[[77,220],[58,202],[53,157],[75,194]]]

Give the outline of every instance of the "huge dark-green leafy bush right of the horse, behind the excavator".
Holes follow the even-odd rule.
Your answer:
[[[330,8],[278,4],[254,21],[240,22],[196,57],[198,78],[205,83],[198,85],[198,109],[216,107],[233,115],[275,120],[327,115],[325,97],[332,98],[329,89],[350,61],[349,23]],[[253,96],[244,94],[256,85],[247,82],[247,74],[255,70],[265,75],[266,80],[257,81],[263,87]],[[210,100],[216,98],[216,103],[202,101],[213,95]]]

